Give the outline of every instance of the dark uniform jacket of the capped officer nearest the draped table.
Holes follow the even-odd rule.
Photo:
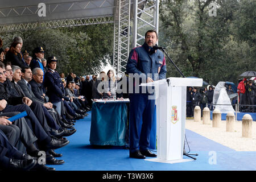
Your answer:
[[[50,69],[44,75],[44,86],[47,88],[47,96],[50,102],[60,102],[64,97],[64,86],[58,72]]]

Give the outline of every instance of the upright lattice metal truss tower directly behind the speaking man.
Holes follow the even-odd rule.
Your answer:
[[[119,12],[115,13],[113,67],[120,77],[125,73],[129,57],[130,31],[133,34],[132,47],[141,46],[144,42],[145,31],[154,29],[158,32],[159,2],[158,0],[133,0],[131,4],[130,2],[119,0],[117,3],[120,3],[121,6],[119,6]],[[127,3],[131,4],[129,8]],[[130,7],[131,10],[129,10]],[[131,19],[133,19],[133,30],[130,27]]]

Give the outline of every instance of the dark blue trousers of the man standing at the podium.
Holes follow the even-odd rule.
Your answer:
[[[130,152],[148,150],[155,100],[148,100],[148,94],[129,94],[130,99]],[[141,135],[139,125],[142,119]]]

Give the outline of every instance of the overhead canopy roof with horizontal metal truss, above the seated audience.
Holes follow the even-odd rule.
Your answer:
[[[44,7],[38,1],[11,1],[0,7],[2,32],[114,22],[114,0],[40,1]],[[43,9],[44,16],[40,15]]]

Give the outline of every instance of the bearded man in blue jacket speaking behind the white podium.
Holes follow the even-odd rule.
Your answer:
[[[155,30],[148,30],[145,42],[140,47],[131,50],[126,65],[126,73],[133,75],[133,86],[166,78],[166,59],[162,51],[156,46],[158,34]],[[135,74],[135,75],[134,75]],[[139,83],[134,80],[139,77]],[[130,85],[130,83],[129,83]],[[145,159],[146,156],[156,157],[149,150],[150,131],[155,108],[155,100],[150,99],[148,90],[139,88],[139,92],[129,93],[130,100],[130,158]],[[144,92],[143,92],[144,91]],[[141,135],[139,125],[142,119]]]

